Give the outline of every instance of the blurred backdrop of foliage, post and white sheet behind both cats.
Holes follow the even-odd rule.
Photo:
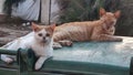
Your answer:
[[[121,10],[115,35],[133,36],[132,7],[133,0],[0,0],[0,28],[29,31],[31,21],[58,25],[93,21],[104,8],[110,12]]]

